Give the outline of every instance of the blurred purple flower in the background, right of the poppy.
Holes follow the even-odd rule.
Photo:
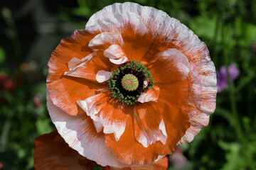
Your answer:
[[[220,71],[217,71],[216,73],[218,92],[228,89],[228,75],[226,73],[226,67],[220,67]],[[235,67],[235,64],[230,64],[228,67],[228,73],[231,81],[237,79],[240,74],[239,69]]]

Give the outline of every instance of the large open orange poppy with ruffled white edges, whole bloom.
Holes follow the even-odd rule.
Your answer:
[[[191,142],[215,110],[206,45],[163,11],[98,11],[48,62],[50,118],[68,145],[102,166],[149,164]]]

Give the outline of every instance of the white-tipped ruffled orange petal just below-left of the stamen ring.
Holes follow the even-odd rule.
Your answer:
[[[78,101],[78,105],[94,121],[98,121],[103,126],[105,134],[114,133],[116,140],[119,140],[125,130],[125,117],[122,107],[119,108],[114,101],[109,99],[110,93],[102,93]]]

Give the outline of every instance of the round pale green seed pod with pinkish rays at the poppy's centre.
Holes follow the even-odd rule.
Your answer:
[[[139,86],[139,80],[133,74],[126,74],[122,78],[122,86],[127,91],[134,91]]]

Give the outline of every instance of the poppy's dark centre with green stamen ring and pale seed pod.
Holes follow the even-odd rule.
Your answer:
[[[151,72],[134,60],[121,64],[107,81],[112,96],[125,105],[137,103],[137,98],[147,89],[153,89]]]

